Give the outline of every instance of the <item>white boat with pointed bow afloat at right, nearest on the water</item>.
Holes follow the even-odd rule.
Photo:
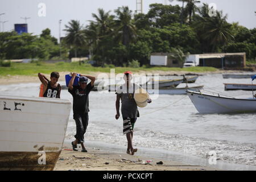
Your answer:
[[[205,90],[187,90],[197,111],[202,114],[213,113],[255,113],[255,98],[234,98]]]

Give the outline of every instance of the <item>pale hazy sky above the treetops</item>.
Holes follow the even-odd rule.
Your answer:
[[[143,13],[147,13],[152,3],[166,3],[167,5],[180,5],[180,2],[169,0],[143,0]],[[203,3],[216,4],[217,10],[228,14],[228,22],[239,22],[247,28],[256,27],[256,1],[255,0],[201,0]],[[93,20],[92,13],[97,9],[112,11],[121,6],[129,6],[136,10],[136,0],[0,0],[0,20],[8,21],[4,24],[5,31],[14,30],[15,23],[25,23],[27,19],[28,32],[40,35],[42,30],[51,29],[51,34],[59,38],[59,20],[61,19],[61,36],[65,36],[65,24],[71,19],[79,20],[84,26]],[[1,31],[3,26],[1,23]]]

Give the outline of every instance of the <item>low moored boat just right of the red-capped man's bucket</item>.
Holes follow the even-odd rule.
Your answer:
[[[159,90],[147,90],[148,93],[158,93],[158,94],[171,94],[171,95],[181,95],[181,94],[187,94],[187,90],[199,90],[202,89],[204,86],[189,86],[189,87],[183,87],[183,88],[174,88],[174,87],[164,87],[159,88]]]

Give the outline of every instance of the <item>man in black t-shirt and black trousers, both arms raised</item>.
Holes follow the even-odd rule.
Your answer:
[[[77,143],[81,143],[82,152],[87,152],[84,146],[84,134],[88,126],[88,112],[89,112],[89,93],[93,89],[93,76],[85,76],[80,74],[79,86],[73,86],[77,73],[72,73],[72,78],[68,84],[68,92],[73,96],[73,118],[76,121],[76,140],[72,142],[73,150],[77,151]],[[91,80],[89,84],[88,78]]]

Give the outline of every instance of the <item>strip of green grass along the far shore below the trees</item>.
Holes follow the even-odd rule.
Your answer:
[[[45,73],[49,74],[53,71],[57,72],[105,72],[110,73],[112,68],[93,67],[90,64],[79,63],[11,63],[11,67],[0,67],[0,76],[7,75],[24,75],[24,76],[37,76],[37,74]],[[187,72],[214,72],[218,69],[212,67],[189,67],[189,68],[168,68],[168,67],[141,67],[141,68],[129,68],[129,67],[115,67],[115,73],[123,73],[125,71],[139,72],[139,71],[187,71]]]

